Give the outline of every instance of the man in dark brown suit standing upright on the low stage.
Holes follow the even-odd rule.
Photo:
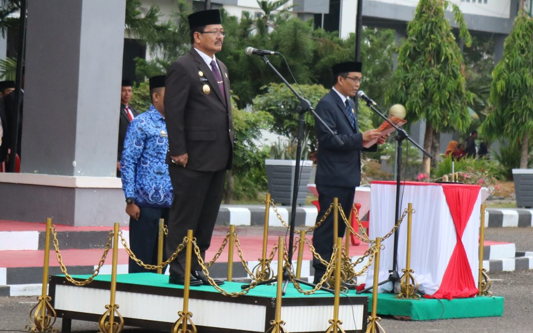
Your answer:
[[[231,168],[233,125],[228,69],[215,58],[225,35],[220,12],[196,12],[188,19],[192,48],[171,65],[165,82],[167,164],[174,188],[166,246],[169,254],[174,253],[192,229],[205,258],[225,173]],[[209,283],[194,253],[191,272],[191,285]],[[182,251],[170,265],[169,282],[183,284],[184,273]]]

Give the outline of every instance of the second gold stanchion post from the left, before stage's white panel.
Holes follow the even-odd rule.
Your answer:
[[[124,328],[124,318],[118,312],[118,304],[115,304],[115,294],[117,291],[117,263],[118,263],[118,223],[115,223],[113,229],[113,262],[111,266],[111,296],[109,304],[106,305],[107,311],[100,317],[98,322],[100,333],[119,333]],[[115,322],[115,313],[118,316],[118,322]],[[106,318],[109,321],[106,322]]]

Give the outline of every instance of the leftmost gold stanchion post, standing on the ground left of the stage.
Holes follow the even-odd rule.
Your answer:
[[[52,226],[52,218],[46,219],[46,234],[44,243],[44,263],[43,263],[43,287],[41,289],[41,296],[37,297],[38,303],[30,311],[30,322],[33,325],[27,325],[26,329],[31,332],[56,332],[53,328],[55,323],[56,313],[50,304],[52,297],[48,296],[48,274],[50,266],[50,233]]]

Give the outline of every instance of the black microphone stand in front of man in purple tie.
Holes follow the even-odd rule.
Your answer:
[[[302,96],[300,96],[300,94],[298,94],[296,92],[296,90],[294,90],[293,86],[290,85],[287,80],[280,74],[280,72],[272,65],[272,63],[270,63],[270,60],[268,60],[268,58],[266,58],[265,55],[261,54],[261,59],[263,59],[263,61],[274,71],[274,73],[276,73],[279,78],[283,81],[283,83],[285,83],[285,85],[290,89],[290,91],[293,92],[293,94],[296,96],[296,98],[298,100],[300,100],[300,105],[298,105],[296,107],[296,112],[298,112],[298,132],[297,132],[297,147],[296,147],[296,167],[294,168],[294,183],[293,183],[293,198],[292,198],[292,206],[291,206],[291,210],[290,210],[290,227],[289,227],[289,247],[287,249],[287,253],[288,253],[288,264],[289,265],[292,265],[292,258],[293,258],[293,246],[294,246],[294,225],[295,225],[295,221],[296,221],[296,200],[298,198],[298,184],[300,183],[300,160],[301,160],[301,154],[302,154],[302,140],[303,140],[303,123],[304,123],[304,113],[305,111],[310,111],[315,119],[317,119],[318,121],[320,121],[320,123],[322,123],[322,125],[324,125],[327,129],[327,131],[332,134],[335,139],[341,144],[341,145],[344,145],[344,142],[342,142],[342,140],[337,136],[337,133],[334,132],[331,128],[329,128],[329,126],[325,123],[325,121],[320,118],[317,113],[313,110],[313,108],[311,107],[311,103],[309,103],[308,100],[304,99]],[[272,282],[275,282],[277,279],[274,278],[274,279],[270,279],[270,280],[265,280],[265,281],[261,281],[259,283],[257,283],[258,286],[261,286],[261,285],[267,285],[269,283],[272,283]],[[283,286],[283,290],[282,290],[282,295],[285,295],[285,291],[287,290],[287,285],[288,285],[288,282],[289,282],[289,273],[287,271],[287,268],[286,266],[284,266],[283,268],[283,281],[284,281],[284,286]],[[307,281],[303,281],[303,280],[300,280],[300,279],[296,279],[296,281],[298,281],[298,283],[302,283],[303,285],[306,285],[306,286],[310,286],[310,287],[314,287],[315,285],[313,285],[313,283],[310,283],[310,282],[307,282]],[[243,285],[241,286],[242,289],[246,289],[248,288],[249,285]],[[321,287],[320,288],[321,290],[325,290],[325,291],[329,291],[330,293],[334,293],[333,290],[331,289],[328,289],[328,288],[324,288],[324,287]]]

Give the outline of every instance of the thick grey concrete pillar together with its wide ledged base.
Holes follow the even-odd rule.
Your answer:
[[[126,0],[29,0],[20,174],[0,219],[126,221],[115,177]]]

